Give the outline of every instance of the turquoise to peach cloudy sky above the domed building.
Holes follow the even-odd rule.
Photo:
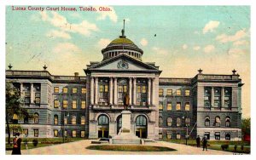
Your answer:
[[[15,6],[17,7],[17,6]],[[23,6],[28,9],[28,6]],[[32,6],[44,7],[47,6]],[[71,7],[71,6],[50,6]],[[125,36],[155,62],[160,77],[241,76],[242,117],[250,117],[250,8],[247,6],[104,6],[111,11],[32,11],[6,8],[6,68],[85,76],[108,43]],[[102,6],[93,6],[96,9]],[[154,37],[154,35],[156,36]]]

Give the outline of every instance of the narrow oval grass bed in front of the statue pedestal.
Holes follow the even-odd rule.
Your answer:
[[[132,145],[99,145],[87,146],[89,150],[101,151],[176,151],[175,149],[163,146],[132,146]]]

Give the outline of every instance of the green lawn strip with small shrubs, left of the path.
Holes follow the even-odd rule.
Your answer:
[[[7,140],[8,139],[6,138],[5,150],[9,151],[9,150],[12,150],[12,148],[13,148],[13,145],[12,145],[13,138],[11,138],[10,145],[7,144]],[[33,146],[32,140],[35,140],[35,138],[26,138],[26,139],[22,139],[21,150],[26,150],[26,146],[24,144],[25,140],[27,140],[27,142],[28,142],[27,143],[28,149],[38,148],[38,147],[42,147],[42,146],[52,146],[52,145],[63,143],[62,138],[37,138],[36,140],[38,140],[38,145]],[[78,140],[84,140],[84,139],[83,138],[66,138],[65,143],[78,141]]]

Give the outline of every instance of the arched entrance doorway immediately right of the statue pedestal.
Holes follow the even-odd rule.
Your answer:
[[[147,118],[144,116],[138,116],[136,118],[136,130],[135,134],[139,138],[146,139],[148,136],[148,128],[147,128]]]

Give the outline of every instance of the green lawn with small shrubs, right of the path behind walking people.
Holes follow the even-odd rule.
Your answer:
[[[166,140],[172,143],[178,144],[186,144],[186,140]],[[189,146],[196,146],[195,140],[188,140]],[[237,146],[236,152],[237,153],[250,153],[251,147],[248,141],[234,141],[234,140],[209,140],[208,141],[208,149],[212,150],[221,150],[221,145],[229,145],[229,147],[225,151],[235,152],[235,146]],[[241,150],[241,146],[244,146],[243,150]]]

